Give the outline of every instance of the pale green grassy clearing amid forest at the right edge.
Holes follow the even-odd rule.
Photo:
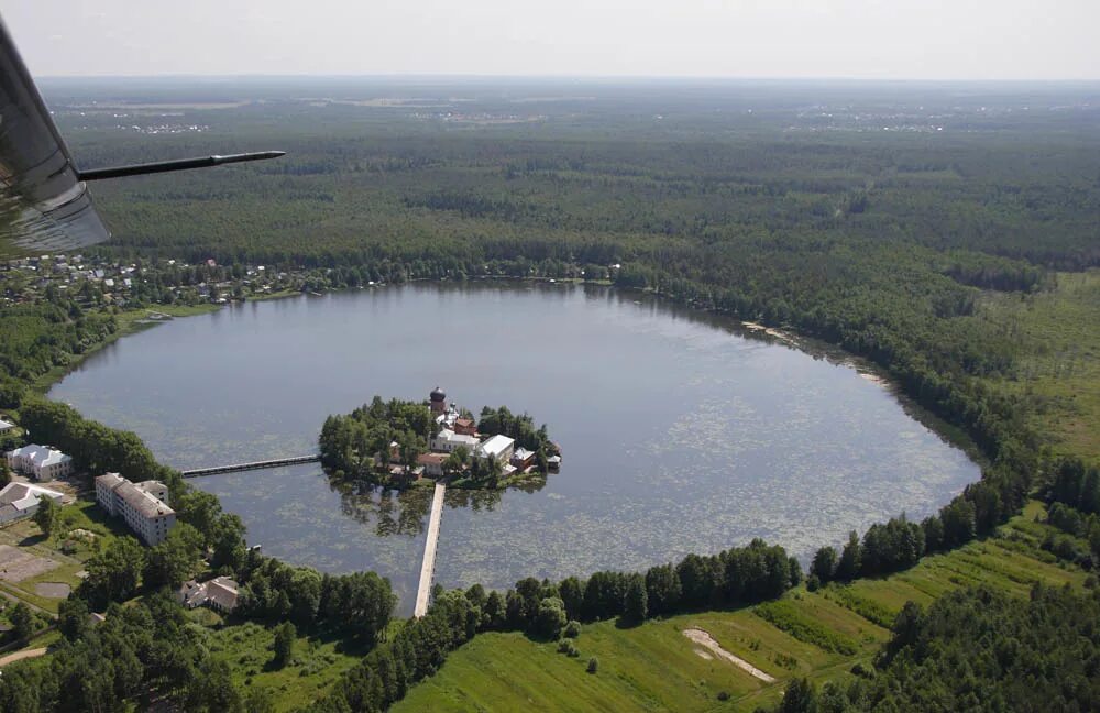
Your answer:
[[[1035,295],[990,294],[980,315],[1020,349],[1016,379],[990,385],[1033,398],[1032,426],[1057,452],[1100,460],[1100,271],[1059,273]]]

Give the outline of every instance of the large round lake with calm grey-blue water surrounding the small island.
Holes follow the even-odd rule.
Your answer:
[[[136,431],[180,469],[312,452],[327,415],[375,394],[427,399],[440,385],[475,414],[528,412],[561,446],[561,472],[536,492],[449,493],[439,542],[440,584],[503,588],[754,537],[805,562],[978,480],[963,449],[865,376],[632,293],[414,284],[176,319],[91,355],[50,396]],[[265,553],[376,570],[411,611],[430,491],[349,492],[319,464],[190,482]]]

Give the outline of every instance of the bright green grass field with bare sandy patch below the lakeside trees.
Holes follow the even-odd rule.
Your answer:
[[[781,630],[755,607],[685,614],[626,629],[615,622],[586,625],[576,641],[578,658],[521,634],[485,634],[453,652],[394,710],[751,711],[778,701],[784,681],[794,676],[820,683],[853,676],[856,663],[869,666],[889,636],[876,622],[892,621],[906,601],[926,605],[953,589],[981,583],[1020,596],[1036,581],[1082,585],[1084,571],[1038,549],[1048,529],[1034,522],[1041,514],[1042,505],[1032,503],[996,537],[927,557],[905,572],[815,593],[789,592],[782,610],[853,643],[850,655],[827,650],[798,628]],[[732,663],[704,659],[682,634],[689,627],[708,632],[727,651],[778,681],[766,684]],[[592,656],[600,665],[590,674],[585,667]],[[721,693],[728,700],[719,700]]]

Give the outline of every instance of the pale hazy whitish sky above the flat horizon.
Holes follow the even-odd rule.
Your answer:
[[[1100,0],[0,0],[35,76],[1100,80]]]

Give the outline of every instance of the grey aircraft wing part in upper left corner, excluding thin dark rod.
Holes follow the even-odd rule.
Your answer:
[[[65,251],[109,237],[0,20],[0,254]]]

